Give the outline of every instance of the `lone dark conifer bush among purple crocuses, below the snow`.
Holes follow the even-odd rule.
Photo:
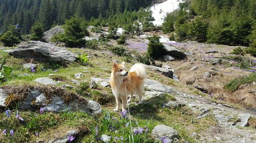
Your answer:
[[[159,39],[160,37],[158,35],[154,35],[153,37],[148,37],[148,40],[150,40],[150,43],[148,43],[148,46],[147,46],[147,53],[153,59],[160,58],[166,52],[164,45],[160,43]]]

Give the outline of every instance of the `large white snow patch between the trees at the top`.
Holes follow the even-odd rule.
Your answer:
[[[154,25],[162,25],[163,19],[167,13],[172,12],[179,8],[179,3],[183,3],[181,0],[168,0],[161,4],[156,4],[151,7],[152,15],[155,18]]]

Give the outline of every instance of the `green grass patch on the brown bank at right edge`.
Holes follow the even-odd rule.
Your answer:
[[[253,81],[256,82],[256,73],[251,73],[248,76],[242,76],[239,78],[232,79],[227,84],[224,85],[224,88],[226,90],[234,92],[239,88],[240,85],[251,83]]]

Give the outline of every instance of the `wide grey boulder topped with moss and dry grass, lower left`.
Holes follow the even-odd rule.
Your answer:
[[[87,100],[65,88],[40,85],[39,87],[0,89],[0,108],[17,107],[18,103],[18,108],[23,110],[39,110],[43,107],[47,112],[79,110],[90,115],[99,115],[102,112],[99,103]]]

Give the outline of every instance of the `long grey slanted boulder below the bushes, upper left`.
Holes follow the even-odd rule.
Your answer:
[[[70,63],[77,57],[70,51],[41,41],[30,41],[9,51],[15,58],[31,58],[39,62]]]

